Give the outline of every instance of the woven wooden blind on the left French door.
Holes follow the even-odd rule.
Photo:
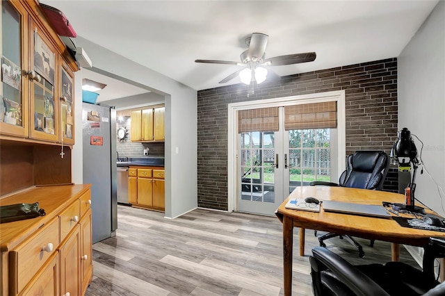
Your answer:
[[[238,111],[238,133],[278,131],[278,107]]]

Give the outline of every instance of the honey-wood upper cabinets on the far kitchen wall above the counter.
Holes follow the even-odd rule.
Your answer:
[[[164,141],[165,107],[131,111],[131,141]]]

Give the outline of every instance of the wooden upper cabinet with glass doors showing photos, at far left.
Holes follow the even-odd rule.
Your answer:
[[[1,5],[1,138],[74,145],[74,58],[38,1]]]

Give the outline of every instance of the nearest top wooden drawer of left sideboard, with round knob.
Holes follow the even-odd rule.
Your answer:
[[[9,253],[10,295],[17,295],[56,252],[59,245],[58,225],[58,217],[55,217]]]

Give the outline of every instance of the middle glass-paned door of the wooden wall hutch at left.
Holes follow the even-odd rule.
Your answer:
[[[57,132],[60,126],[56,124],[56,110],[58,101],[54,100],[56,54],[40,35],[35,24],[31,33],[31,65],[33,74],[31,81],[31,114],[34,123],[31,124],[31,138],[41,140],[54,140],[57,142]]]

